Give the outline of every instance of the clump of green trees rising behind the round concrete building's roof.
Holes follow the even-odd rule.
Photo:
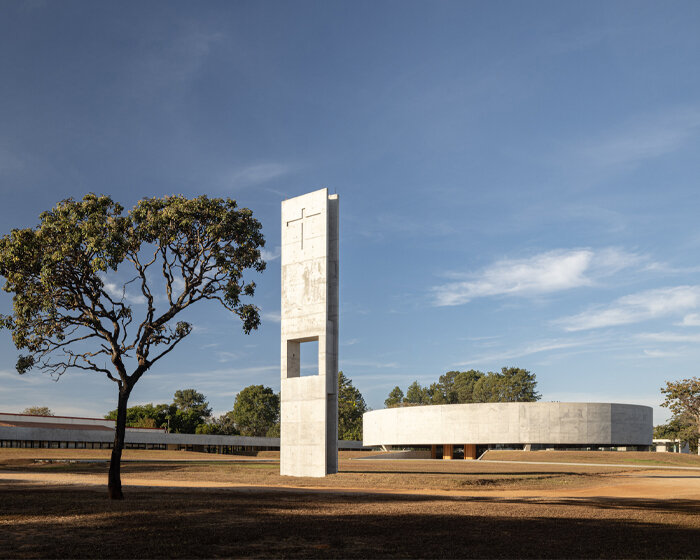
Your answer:
[[[476,402],[532,402],[540,399],[535,374],[522,368],[502,368],[500,373],[448,371],[430,386],[418,381],[408,386],[406,394],[394,387],[384,401],[387,408],[418,404],[459,404]]]

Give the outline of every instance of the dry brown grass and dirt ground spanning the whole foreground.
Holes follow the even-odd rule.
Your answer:
[[[110,502],[105,463],[35,462],[96,453],[0,450],[0,558],[700,557],[700,468],[343,454],[296,479],[270,456],[129,451]]]

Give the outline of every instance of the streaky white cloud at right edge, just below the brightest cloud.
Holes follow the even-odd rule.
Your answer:
[[[687,313],[699,306],[700,286],[676,286],[624,296],[606,307],[595,307],[555,324],[567,331],[598,329]]]

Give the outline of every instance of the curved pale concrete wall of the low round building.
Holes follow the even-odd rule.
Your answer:
[[[363,417],[365,445],[651,445],[652,409],[616,403],[475,403],[385,408]]]

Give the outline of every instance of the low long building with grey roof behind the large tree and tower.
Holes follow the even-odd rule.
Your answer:
[[[114,420],[0,413],[0,447],[110,449]],[[235,453],[279,450],[279,438],[173,434],[163,429],[127,428],[127,449],[173,449]],[[339,449],[362,449],[361,441],[339,441]]]

